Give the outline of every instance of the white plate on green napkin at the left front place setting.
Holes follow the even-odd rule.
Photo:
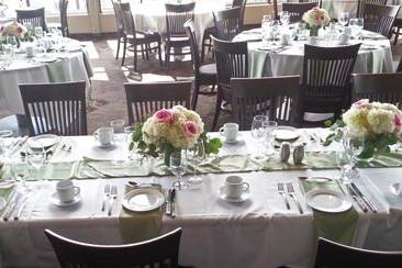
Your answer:
[[[155,188],[138,188],[127,192],[123,206],[135,212],[152,211],[165,203],[165,196]]]

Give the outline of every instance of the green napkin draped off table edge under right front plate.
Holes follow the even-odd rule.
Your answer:
[[[304,192],[311,190],[327,189],[342,192],[336,181],[331,180],[328,182],[312,182],[303,179],[299,179],[300,185],[304,189]],[[353,245],[355,233],[357,230],[357,223],[359,215],[355,208],[340,213],[326,213],[313,210],[314,227],[315,227],[315,241],[319,237],[324,237],[344,245]],[[316,248],[315,250],[316,252]],[[313,267],[313,260],[315,254],[311,258],[310,267]]]

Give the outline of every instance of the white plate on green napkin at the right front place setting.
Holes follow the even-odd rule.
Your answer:
[[[312,190],[305,194],[305,202],[317,211],[338,213],[351,208],[350,198],[334,190]]]

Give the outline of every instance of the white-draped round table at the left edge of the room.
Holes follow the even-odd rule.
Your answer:
[[[24,114],[19,83],[86,81],[90,92],[92,67],[86,47],[78,41],[65,40],[58,52],[36,53],[27,58],[21,49],[12,57],[11,65],[0,69],[0,100],[15,114]],[[1,55],[5,60],[5,55]]]

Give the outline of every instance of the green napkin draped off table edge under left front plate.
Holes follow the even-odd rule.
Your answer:
[[[125,192],[134,187],[126,186]],[[161,190],[160,187],[157,187]],[[124,243],[136,243],[155,238],[160,234],[163,205],[156,210],[147,212],[133,212],[122,209],[119,216],[119,227]]]

